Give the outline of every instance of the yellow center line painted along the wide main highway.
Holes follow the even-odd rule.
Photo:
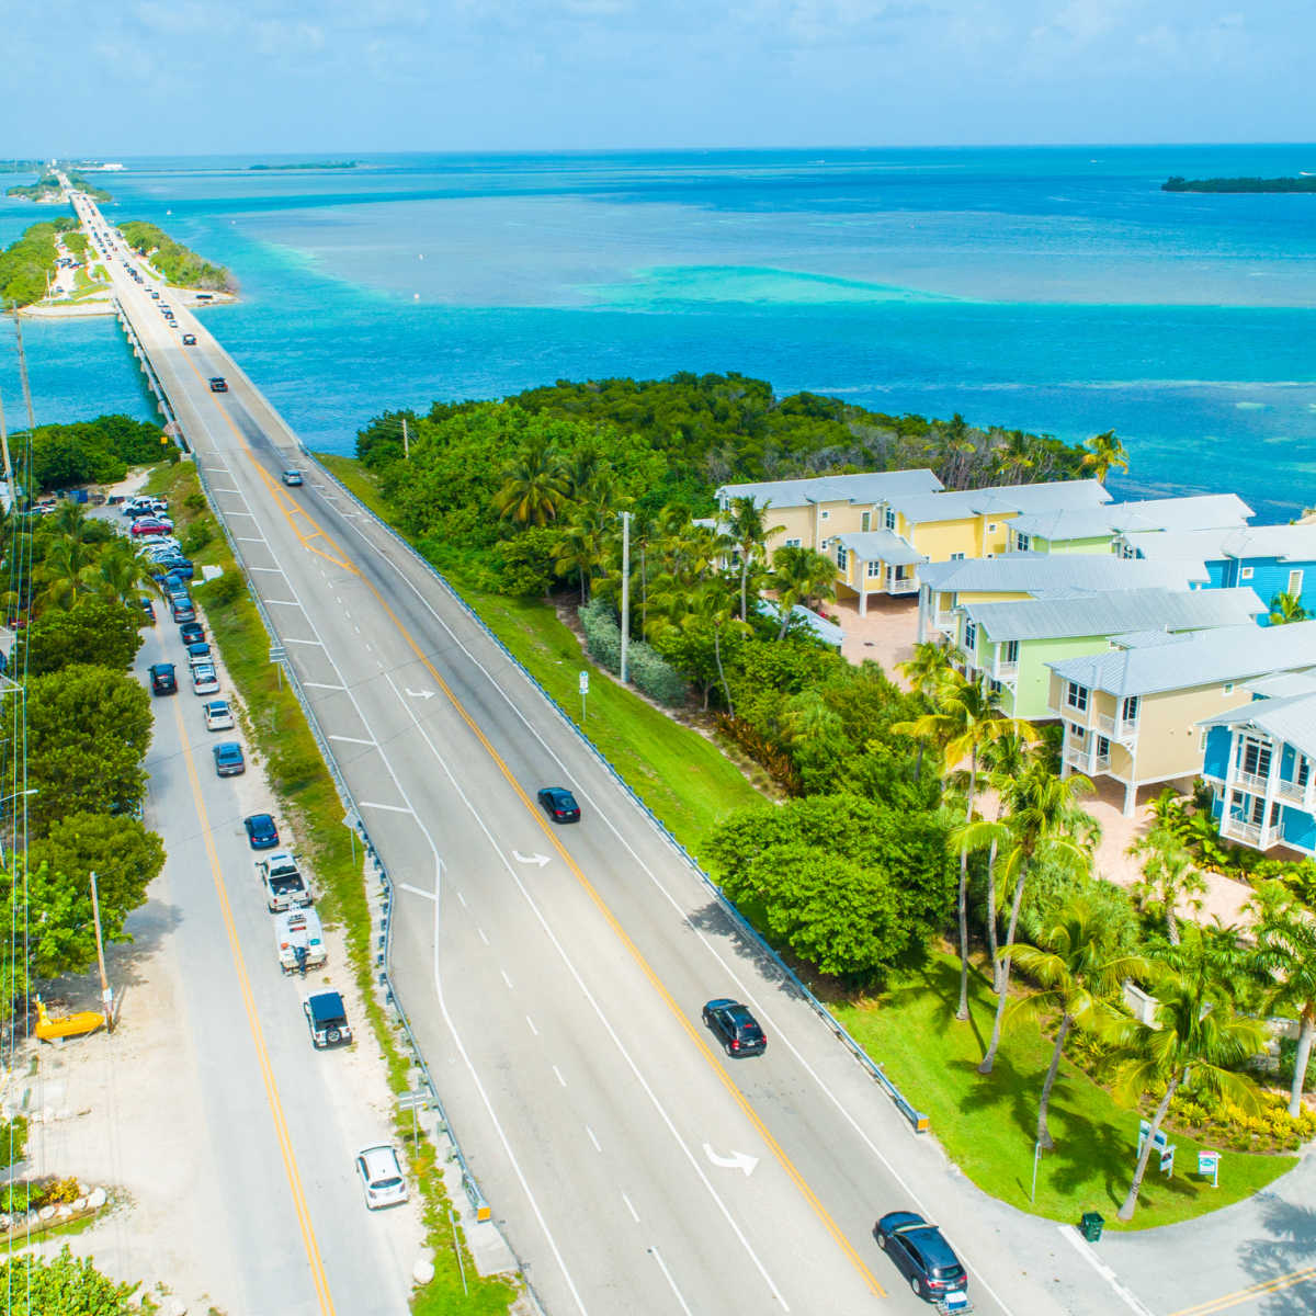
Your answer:
[[[188,365],[192,365],[192,363],[188,362]],[[200,370],[196,368],[195,365],[192,365],[192,370],[196,371],[197,379],[201,379],[201,372],[200,372]],[[490,742],[490,740],[484,734],[484,732],[479,728],[479,725],[476,724],[475,719],[471,717],[471,715],[462,705],[462,701],[453,692],[453,690],[447,684],[447,682],[443,680],[443,678],[438,674],[438,670],[434,667],[434,665],[425,655],[425,653],[421,649],[421,646],[412,637],[412,633],[407,629],[405,625],[403,625],[403,622],[399,620],[399,617],[393,612],[393,609],[388,607],[388,604],[384,601],[384,597],[379,592],[379,590],[376,590],[375,586],[371,584],[371,582],[367,580],[365,578],[365,575],[362,575],[362,572],[361,572],[361,570],[358,567],[353,566],[351,563],[349,563],[346,561],[346,554],[341,549],[338,549],[338,545],[318,525],[318,522],[316,522],[299,505],[292,505],[291,508],[286,505],[286,501],[284,501],[284,499],[282,496],[282,491],[279,490],[278,484],[275,484],[274,478],[268,474],[268,471],[265,470],[265,467],[257,459],[257,455],[251,451],[250,446],[246,442],[246,438],[243,437],[241,429],[238,429],[238,426],[234,422],[233,417],[229,416],[228,411],[225,411],[225,408],[222,408],[222,407],[220,408],[220,415],[222,415],[224,418],[228,421],[229,428],[237,436],[238,443],[242,446],[242,450],[251,459],[253,466],[255,467],[257,472],[261,475],[261,478],[268,486],[270,492],[274,494],[274,496],[275,496],[275,505],[279,508],[279,511],[283,512],[284,517],[288,521],[288,525],[292,529],[292,533],[296,534],[296,537],[301,541],[301,544],[305,545],[307,547],[309,547],[311,551],[320,553],[320,550],[315,549],[308,542],[307,537],[301,534],[301,532],[299,530],[299,528],[296,525],[296,521],[293,520],[295,515],[304,516],[305,520],[309,521],[311,525],[315,526],[316,533],[315,533],[313,537],[322,538],[324,542],[326,545],[329,545],[338,554],[338,555],[330,555],[328,553],[320,553],[320,557],[329,558],[329,561],[337,562],[338,566],[342,566],[346,570],[351,571],[354,575],[357,575],[361,579],[362,584],[365,584],[366,588],[375,596],[375,600],[379,603],[379,605],[384,609],[384,612],[392,620],[393,625],[397,628],[399,634],[403,637],[403,640],[405,640],[407,645],[416,654],[416,657],[424,665],[424,667],[426,669],[426,671],[429,671],[429,674],[434,678],[436,683],[443,691],[443,694],[447,696],[449,701],[451,703],[451,705],[457,711],[457,713],[461,716],[462,721],[466,722],[466,725],[475,734],[476,740],[479,740],[479,742],[484,746],[484,749],[488,753],[490,758],[494,759],[495,765],[497,766],[499,771],[505,778],[507,783],[512,787],[512,790],[520,797],[522,805],[525,807],[525,811],[540,825],[540,828],[544,832],[545,837],[547,838],[549,844],[562,857],[563,862],[571,870],[572,875],[575,876],[575,879],[580,884],[580,887],[584,890],[586,895],[588,895],[590,899],[594,901],[595,908],[597,908],[597,911],[603,915],[603,917],[607,921],[608,926],[612,929],[612,932],[615,933],[615,936],[617,937],[617,940],[621,942],[621,945],[626,949],[626,951],[629,953],[630,958],[640,967],[640,970],[645,975],[645,978],[649,979],[650,984],[658,992],[658,996],[661,998],[661,1000],[663,1001],[663,1004],[667,1005],[667,1008],[671,1011],[672,1016],[680,1023],[682,1028],[686,1030],[687,1036],[695,1044],[695,1048],[699,1050],[700,1055],[703,1055],[703,1058],[708,1063],[709,1069],[712,1069],[712,1071],[721,1080],[722,1087],[726,1088],[726,1091],[732,1096],[732,1100],[734,1100],[734,1103],[741,1108],[741,1111],[745,1115],[745,1117],[750,1121],[750,1124],[754,1126],[754,1129],[757,1130],[757,1133],[759,1134],[759,1137],[763,1140],[765,1146],[767,1146],[767,1149],[772,1153],[772,1155],[775,1157],[775,1159],[778,1161],[778,1163],[786,1171],[787,1177],[795,1184],[796,1190],[800,1192],[800,1195],[804,1198],[804,1200],[813,1209],[813,1213],[822,1223],[824,1228],[832,1236],[832,1238],[834,1240],[834,1242],[837,1244],[837,1246],[840,1246],[840,1249],[845,1254],[846,1259],[859,1273],[859,1275],[863,1278],[863,1282],[869,1286],[869,1290],[873,1294],[875,1294],[878,1298],[886,1298],[887,1296],[887,1291],[878,1282],[876,1275],[874,1275],[873,1271],[869,1269],[869,1266],[865,1263],[863,1258],[859,1255],[859,1253],[855,1249],[854,1244],[850,1242],[850,1240],[842,1232],[841,1227],[832,1219],[830,1212],[828,1212],[826,1207],[822,1205],[822,1203],[819,1199],[817,1194],[805,1182],[804,1177],[795,1167],[795,1163],[786,1154],[786,1150],[782,1148],[782,1145],[769,1132],[767,1125],[762,1121],[762,1119],[758,1116],[758,1113],[754,1111],[754,1108],[749,1104],[749,1100],[745,1098],[745,1095],[741,1092],[741,1090],[732,1080],[732,1076],[726,1073],[726,1069],[722,1065],[719,1063],[717,1058],[713,1055],[712,1048],[709,1048],[709,1045],[705,1041],[705,1038],[703,1037],[703,1034],[695,1028],[694,1023],[691,1021],[691,1019],[688,1017],[688,1015],[686,1013],[686,1011],[683,1011],[680,1008],[680,1005],[672,998],[671,992],[667,990],[667,987],[659,979],[658,974],[649,965],[647,959],[645,959],[644,954],[640,951],[640,948],[634,944],[634,941],[632,941],[629,933],[621,926],[621,924],[617,920],[616,915],[613,915],[613,912],[608,908],[608,905],[604,901],[603,896],[599,895],[599,892],[595,890],[594,884],[590,882],[590,879],[580,870],[580,866],[575,862],[575,859],[571,857],[571,854],[563,846],[563,844],[561,842],[561,840],[558,840],[558,837],[554,834],[554,832],[549,826],[547,821],[544,819],[544,816],[540,812],[540,809],[536,808],[534,803],[530,800],[530,796],[525,792],[525,790],[521,787],[521,783],[517,782],[516,776],[512,774],[512,770],[504,762],[503,757],[499,754],[499,751]],[[291,501],[291,500],[288,500],[288,501]]]

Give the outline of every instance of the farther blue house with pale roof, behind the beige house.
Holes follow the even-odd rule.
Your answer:
[[[1316,524],[1130,532],[1116,540],[1116,551],[1153,561],[1205,562],[1217,590],[1250,586],[1267,608],[1277,595],[1291,594],[1316,616]]]

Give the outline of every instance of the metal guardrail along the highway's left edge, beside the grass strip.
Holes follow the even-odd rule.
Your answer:
[[[393,880],[388,873],[384,861],[379,857],[379,851],[375,849],[374,842],[370,840],[370,832],[361,816],[361,809],[357,805],[357,800],[351,794],[351,787],[347,786],[347,779],[343,776],[342,769],[338,766],[338,759],[334,757],[334,751],[329,744],[329,737],[325,734],[324,728],[320,725],[320,720],[316,717],[315,708],[311,705],[311,700],[307,697],[307,692],[297,678],[296,671],[292,669],[292,663],[288,662],[287,654],[284,651],[283,642],[279,638],[279,632],[275,629],[274,621],[270,613],[266,611],[265,604],[261,601],[261,596],[257,594],[255,588],[251,586],[251,572],[247,570],[246,559],[242,557],[242,550],[237,545],[237,540],[233,532],[229,529],[228,522],[224,520],[224,513],[220,512],[220,504],[215,499],[215,494],[211,490],[211,483],[205,478],[205,470],[200,462],[195,463],[196,475],[200,480],[201,490],[204,491],[207,500],[211,507],[215,508],[216,520],[220,522],[220,529],[224,532],[224,538],[228,540],[229,550],[233,554],[233,559],[242,569],[242,574],[246,576],[247,594],[251,596],[253,604],[255,604],[255,611],[261,617],[261,624],[265,626],[266,634],[270,637],[270,650],[271,659],[278,662],[283,670],[283,674],[288,679],[288,686],[301,705],[301,712],[307,719],[307,725],[311,728],[311,734],[315,737],[316,745],[320,749],[320,754],[324,758],[325,767],[329,772],[329,778],[334,784],[334,790],[338,792],[338,799],[343,808],[347,811],[347,816],[343,819],[345,825],[350,826],[357,836],[361,837],[361,844],[365,849],[366,858],[370,859],[375,870],[375,876],[379,880],[382,890],[380,901],[380,933],[375,946],[375,967],[379,970],[379,986],[384,991],[384,1003],[390,1005],[392,1011],[397,1015],[397,1023],[401,1026],[403,1034],[407,1038],[407,1046],[412,1053],[412,1061],[420,1074],[420,1080],[422,1090],[425,1092],[426,1104],[433,1108],[437,1115],[438,1123],[436,1130],[447,1138],[449,1146],[451,1148],[451,1158],[457,1161],[458,1169],[462,1173],[462,1188],[466,1192],[467,1200],[471,1204],[471,1209],[475,1212],[475,1219],[478,1223],[490,1223],[497,1229],[507,1246],[508,1254],[516,1262],[517,1278],[524,1284],[525,1292],[530,1302],[534,1304],[534,1309],[540,1316],[546,1316],[544,1304],[540,1302],[538,1294],[534,1291],[534,1286],[530,1283],[529,1275],[525,1273],[525,1263],[521,1261],[520,1254],[512,1246],[511,1240],[507,1237],[505,1230],[500,1221],[494,1220],[492,1209],[480,1191],[479,1183],[475,1175],[471,1173],[470,1165],[466,1161],[466,1154],[462,1152],[462,1145],[458,1141],[457,1133],[453,1129],[453,1121],[447,1116],[447,1111],[443,1108],[443,1103],[438,1095],[438,1084],[434,1082],[433,1075],[429,1071],[429,1065],[425,1062],[425,1055],[421,1051],[420,1042],[416,1034],[412,1032],[411,1020],[407,1017],[407,1011],[403,1008],[401,998],[397,995],[397,988],[393,986],[392,975],[390,974],[388,963],[390,954],[392,951],[392,905],[393,905]],[[274,657],[278,653],[279,657]]]

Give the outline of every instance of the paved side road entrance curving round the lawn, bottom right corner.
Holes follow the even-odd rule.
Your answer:
[[[1107,1233],[1098,1250],[1155,1316],[1316,1312],[1316,1157],[1308,1149],[1246,1202],[1182,1225]]]

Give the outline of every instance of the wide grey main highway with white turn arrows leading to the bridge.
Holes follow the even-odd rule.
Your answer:
[[[195,317],[179,309],[168,329],[112,272],[401,884],[399,994],[545,1305],[926,1312],[871,1236],[876,1216],[913,1208],[970,1266],[978,1311],[1063,1309],[1026,1230],[919,1142],[434,576],[318,471],[284,488],[279,471],[305,466],[287,425]],[[212,393],[211,375],[230,391]],[[580,825],[549,824],[542,784],[575,791]],[[700,1007],[721,995],[753,1005],[766,1055],[733,1062],[704,1032]]]

